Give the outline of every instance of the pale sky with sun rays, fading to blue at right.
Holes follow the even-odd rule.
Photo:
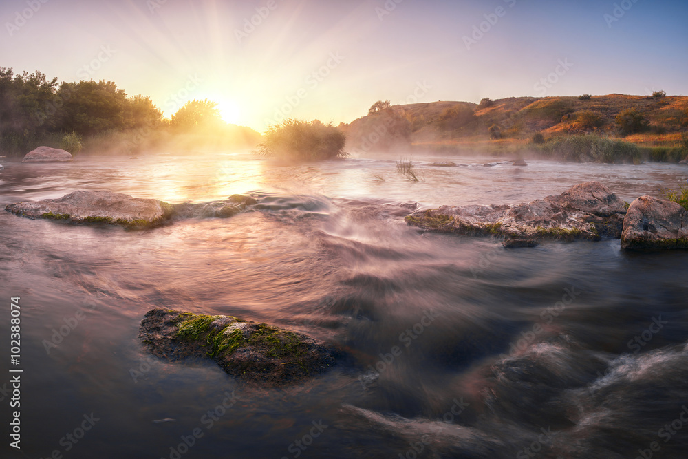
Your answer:
[[[2,0],[0,67],[264,132],[393,105],[688,94],[685,0]]]

